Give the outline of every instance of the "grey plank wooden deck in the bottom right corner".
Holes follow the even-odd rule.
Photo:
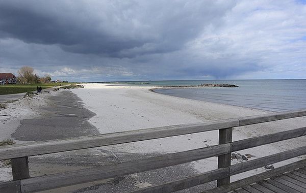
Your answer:
[[[235,193],[304,193],[306,192],[306,167],[238,188]]]

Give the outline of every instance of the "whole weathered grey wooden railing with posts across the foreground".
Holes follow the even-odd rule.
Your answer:
[[[218,187],[210,190],[210,192],[231,191],[232,189],[241,187],[247,183],[253,183],[273,175],[306,166],[306,159],[302,159],[298,162],[279,167],[272,171],[264,172],[230,183],[231,175],[239,174],[245,171],[260,168],[269,164],[281,162],[289,158],[306,154],[306,146],[303,146],[231,166],[231,152],[233,151],[239,151],[242,149],[257,147],[306,135],[306,127],[302,127],[290,131],[232,142],[233,127],[301,116],[306,116],[306,110],[271,113],[213,122],[172,125],[66,140],[34,142],[23,145],[1,147],[0,160],[12,159],[13,181],[0,183],[0,192],[35,192],[53,189],[73,184],[112,178],[120,175],[127,175],[169,167],[213,156],[218,156],[218,169],[216,170],[160,185],[137,189],[133,192],[171,192],[213,180],[218,180]],[[130,162],[98,168],[90,168],[37,177],[30,177],[29,175],[29,156],[130,143],[213,130],[219,130],[219,145],[133,160]]]

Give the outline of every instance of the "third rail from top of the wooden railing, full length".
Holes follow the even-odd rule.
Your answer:
[[[213,170],[213,171],[206,172],[203,174],[198,174],[195,176],[183,178],[180,180],[175,180],[175,181],[164,183],[161,185],[141,188],[141,189],[138,189],[132,192],[133,193],[136,193],[136,192],[137,193],[140,193],[140,192],[153,193],[153,192],[177,191],[177,190],[186,189],[186,188],[189,188],[195,185],[200,185],[202,183],[217,180],[220,178],[224,178],[224,176],[231,176],[231,175],[239,174],[239,173],[246,172],[252,169],[260,168],[268,164],[281,162],[283,160],[290,159],[290,158],[293,158],[299,155],[303,155],[303,154],[306,154],[306,146],[284,151],[281,153],[276,153],[276,154],[261,157],[261,158],[257,158],[257,159],[253,159],[248,162],[236,164],[236,165],[226,167],[226,168],[220,168],[217,170]],[[302,160],[301,163],[305,164],[306,160]],[[229,171],[222,170],[222,169],[229,169]],[[219,175],[216,175],[218,172],[221,172],[221,171],[222,171],[223,176],[220,177]],[[214,174],[214,176],[211,176],[211,174]],[[208,175],[208,176],[205,178],[205,175]]]

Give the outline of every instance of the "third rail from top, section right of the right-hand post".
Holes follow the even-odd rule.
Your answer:
[[[281,153],[276,153],[273,155],[253,159],[248,162],[230,166],[230,174],[231,175],[239,174],[245,171],[249,171],[249,170],[260,168],[260,167],[263,167],[269,164],[281,162],[283,160],[286,160],[292,157],[296,157],[299,155],[303,155],[303,154],[306,154],[306,146],[298,147],[298,148],[284,151]]]

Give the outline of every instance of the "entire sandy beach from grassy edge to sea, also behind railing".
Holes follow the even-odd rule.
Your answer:
[[[15,137],[16,143],[27,143],[27,141],[34,140],[32,137],[29,136],[24,137],[23,134],[29,133],[27,132],[30,130],[30,127],[28,125],[33,125],[33,121],[35,123],[35,121],[37,121],[36,119],[39,118],[45,121],[49,118],[52,118],[52,120],[54,120],[54,118],[57,118],[56,120],[61,120],[61,117],[74,117],[75,121],[78,121],[80,117],[85,117],[82,118],[82,121],[79,120],[79,122],[75,123],[75,125],[78,126],[80,129],[78,131],[73,131],[74,133],[72,132],[71,136],[56,136],[55,134],[54,136],[52,136],[52,133],[45,134],[47,137],[50,138],[40,136],[42,140],[53,140],[59,138],[88,135],[86,131],[82,131],[83,124],[88,125],[88,129],[90,128],[90,131],[93,131],[93,134],[95,131],[100,134],[106,134],[113,132],[137,130],[140,128],[150,128],[157,126],[203,121],[206,122],[269,113],[268,111],[262,111],[257,109],[171,97],[169,95],[152,92],[149,89],[152,89],[153,87],[147,86],[110,86],[98,83],[87,83],[84,84],[84,86],[85,88],[71,89],[70,91],[60,90],[58,92],[43,93],[31,99],[22,98],[14,102],[7,103],[7,108],[0,111],[0,115],[2,115],[0,116],[0,124],[6,125],[5,127],[1,126],[1,139],[3,140],[13,136],[13,138]],[[70,103],[72,103],[73,101],[76,101],[77,103],[73,103],[71,105]],[[55,104],[61,104],[61,106],[58,107],[55,106]],[[60,107],[61,109],[59,109]],[[73,110],[73,108],[75,108],[75,110]],[[71,112],[69,111],[69,109],[71,109]],[[87,112],[87,109],[92,113],[92,115],[89,117],[87,116],[87,113],[83,113],[84,110],[86,110],[85,112]],[[82,111],[78,113],[77,111],[79,110]],[[52,114],[52,116],[50,114]],[[55,114],[57,114],[56,117]],[[24,121],[24,119],[28,121]],[[22,122],[22,124],[20,124],[20,121]],[[29,123],[29,121],[32,122]],[[49,124],[49,122],[42,124]],[[237,127],[234,128],[233,140],[236,141],[240,139],[291,130],[294,128],[302,127],[305,125],[305,123],[306,118],[300,117],[282,121],[274,121],[269,123]],[[61,125],[56,125],[54,127],[58,128],[59,133],[63,133],[63,131],[61,131]],[[37,128],[35,129],[36,132],[39,132]],[[44,129],[47,130],[48,128]],[[27,140],[20,140],[23,139],[22,137]],[[300,137],[293,140],[287,140],[284,142],[265,145],[263,146],[264,148],[257,147],[239,151],[239,153],[251,154],[254,157],[251,157],[249,159],[253,159],[299,147],[304,145],[305,142],[306,138]],[[103,148],[92,148],[79,152],[68,152],[65,155],[62,153],[58,153],[44,156],[35,156],[32,158],[32,160],[30,160],[30,164],[31,161],[32,163],[34,163],[30,165],[30,168],[32,167],[32,174],[42,175],[50,171],[44,170],[45,173],[40,173],[37,171],[37,167],[40,167],[41,169],[42,167],[45,167],[46,163],[56,164],[53,165],[53,167],[56,166],[57,168],[59,168],[58,171],[68,171],[72,169],[80,169],[90,166],[124,162],[125,160],[155,156],[165,153],[208,147],[211,145],[216,145],[217,143],[217,131],[197,133],[191,135],[183,135],[177,137],[148,140],[143,142],[108,146]],[[70,158],[72,159],[72,157],[74,159],[70,160]],[[75,159],[75,157],[77,158]],[[299,158],[294,158],[294,160],[297,159]],[[61,161],[59,162],[59,160]],[[98,163],[96,163],[97,160]],[[284,163],[289,163],[291,161],[292,160],[287,160],[282,163],[273,164],[273,166],[278,167],[283,165]],[[244,162],[244,160],[233,159],[232,165],[239,162]],[[59,163],[61,164],[59,165]],[[69,166],[70,168],[66,167],[65,169],[63,169],[63,165]],[[198,160],[189,164],[184,164],[178,166],[177,168],[173,167],[170,170],[160,170],[159,174],[162,174],[160,176],[165,176],[163,177],[162,181],[170,181],[173,178],[167,175],[173,175],[174,170],[181,171],[181,173],[176,174],[176,177],[180,178],[184,175],[188,176],[190,174],[210,171],[216,168],[217,157],[212,157],[209,159]],[[263,167],[248,172],[247,174],[242,173],[240,175],[233,176],[231,180],[235,181],[241,178],[242,176],[245,177],[246,175],[253,175],[263,171],[267,171],[267,169]],[[0,168],[0,172],[2,176],[0,181],[7,181],[11,179],[10,168],[2,167]],[[129,180],[132,180],[134,184],[132,189],[148,186],[159,182],[158,180],[153,178],[148,179],[148,176],[152,176],[151,173],[146,173],[144,175],[135,174],[130,175],[129,178],[126,178],[126,180],[122,181],[124,181],[125,184],[129,184],[132,183]],[[101,183],[103,182],[87,185],[90,186]],[[105,189],[111,189],[116,186],[109,185],[108,183],[106,184],[107,185],[105,186]],[[214,184],[211,184],[211,186],[214,186]],[[81,187],[77,186],[68,190],[72,191],[79,188]],[[103,190],[99,190],[103,192]],[[91,191],[86,190],[85,192]],[[116,192],[116,190],[113,190],[112,192]]]

